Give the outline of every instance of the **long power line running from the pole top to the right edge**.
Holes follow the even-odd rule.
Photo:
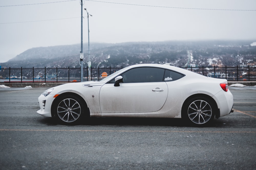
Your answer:
[[[160,7],[160,8],[177,8],[177,9],[223,10],[223,11],[256,11],[256,10],[247,10],[247,9],[209,9],[209,8],[183,8],[183,7],[152,6],[152,5],[138,5],[138,4],[125,4],[125,3],[116,3],[116,2],[104,2],[104,1],[95,1],[95,0],[86,0],[86,1],[103,2],[103,3],[111,3],[111,4],[122,4],[122,5]]]

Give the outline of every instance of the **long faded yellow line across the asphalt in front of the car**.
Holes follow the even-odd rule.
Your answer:
[[[61,130],[61,129],[0,129],[0,131],[40,132],[160,132],[160,133],[256,133],[256,131],[194,131],[194,130]]]

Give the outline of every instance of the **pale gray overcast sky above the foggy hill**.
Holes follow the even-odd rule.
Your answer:
[[[0,62],[33,47],[81,43],[80,2],[0,0]],[[256,40],[255,0],[83,0],[83,3],[83,8],[92,15],[89,16],[91,43]],[[85,10],[83,16],[83,42],[87,44]],[[87,49],[85,45],[84,51]]]

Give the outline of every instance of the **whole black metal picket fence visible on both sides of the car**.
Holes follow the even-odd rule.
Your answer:
[[[228,81],[256,81],[256,67],[180,67],[209,77],[227,79]],[[101,80],[122,69],[91,68],[91,79]],[[0,82],[80,82],[81,68],[2,68]],[[84,81],[88,81],[88,67],[83,69]]]

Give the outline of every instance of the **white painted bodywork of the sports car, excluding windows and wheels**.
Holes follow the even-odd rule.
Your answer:
[[[159,67],[183,73],[185,76],[166,82],[120,83],[118,87],[108,83],[122,72],[134,67]],[[103,79],[104,81],[56,86],[48,96],[39,96],[40,110],[37,113],[52,117],[52,102],[56,99],[53,96],[64,93],[75,93],[81,96],[89,108],[91,117],[181,118],[184,101],[197,94],[212,97],[220,110],[220,116],[229,114],[233,107],[231,92],[224,91],[219,85],[227,83],[225,79],[206,77],[182,68],[161,64],[137,64],[123,69],[121,73],[110,75]],[[159,91],[152,91],[154,89]],[[45,104],[43,101],[46,101]]]

